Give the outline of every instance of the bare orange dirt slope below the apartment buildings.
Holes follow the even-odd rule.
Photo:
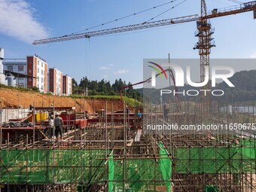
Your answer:
[[[0,101],[2,108],[29,108],[29,105],[35,107],[49,107],[54,103],[56,107],[75,107],[76,111],[87,110],[90,113],[101,108],[105,108],[107,102],[107,111],[121,109],[120,99],[72,99],[66,96],[50,96],[35,92],[25,92],[6,88],[0,88]],[[0,104],[1,105],[1,104]]]

